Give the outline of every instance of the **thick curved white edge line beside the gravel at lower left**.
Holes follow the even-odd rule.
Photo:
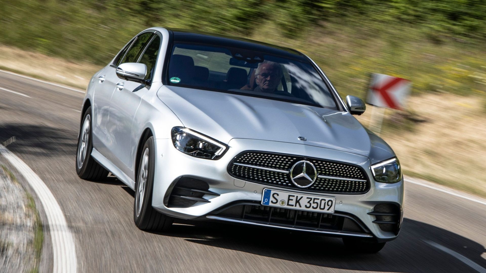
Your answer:
[[[53,273],[75,273],[76,248],[66,218],[51,190],[17,155],[0,145],[0,154],[21,173],[39,197],[46,212],[52,240]]]

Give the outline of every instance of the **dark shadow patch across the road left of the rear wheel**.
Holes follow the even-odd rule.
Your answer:
[[[58,156],[76,154],[76,136],[72,132],[45,126],[22,123],[0,123],[0,143],[12,136],[16,141],[8,148],[18,154]]]

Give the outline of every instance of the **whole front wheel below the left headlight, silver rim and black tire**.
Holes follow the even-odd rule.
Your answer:
[[[152,207],[152,190],[154,186],[155,145],[154,137],[149,137],[142,148],[139,158],[133,220],[141,230],[167,231],[173,218],[161,214]]]

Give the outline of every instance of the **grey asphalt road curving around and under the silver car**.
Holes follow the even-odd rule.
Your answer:
[[[0,143],[16,136],[7,148],[51,189],[74,237],[78,272],[486,272],[486,205],[412,183],[399,238],[374,255],[349,253],[340,239],[218,223],[141,231],[132,190],[76,175],[84,94],[3,72],[0,87]],[[50,272],[44,223],[41,271]]]

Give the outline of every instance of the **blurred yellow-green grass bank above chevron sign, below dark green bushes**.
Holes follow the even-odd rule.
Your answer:
[[[279,33],[270,23],[250,38],[309,55],[343,97],[364,99],[371,72],[411,80],[413,94],[486,94],[486,51],[482,44],[434,44],[419,30],[408,27],[339,20],[304,30],[298,39]]]

